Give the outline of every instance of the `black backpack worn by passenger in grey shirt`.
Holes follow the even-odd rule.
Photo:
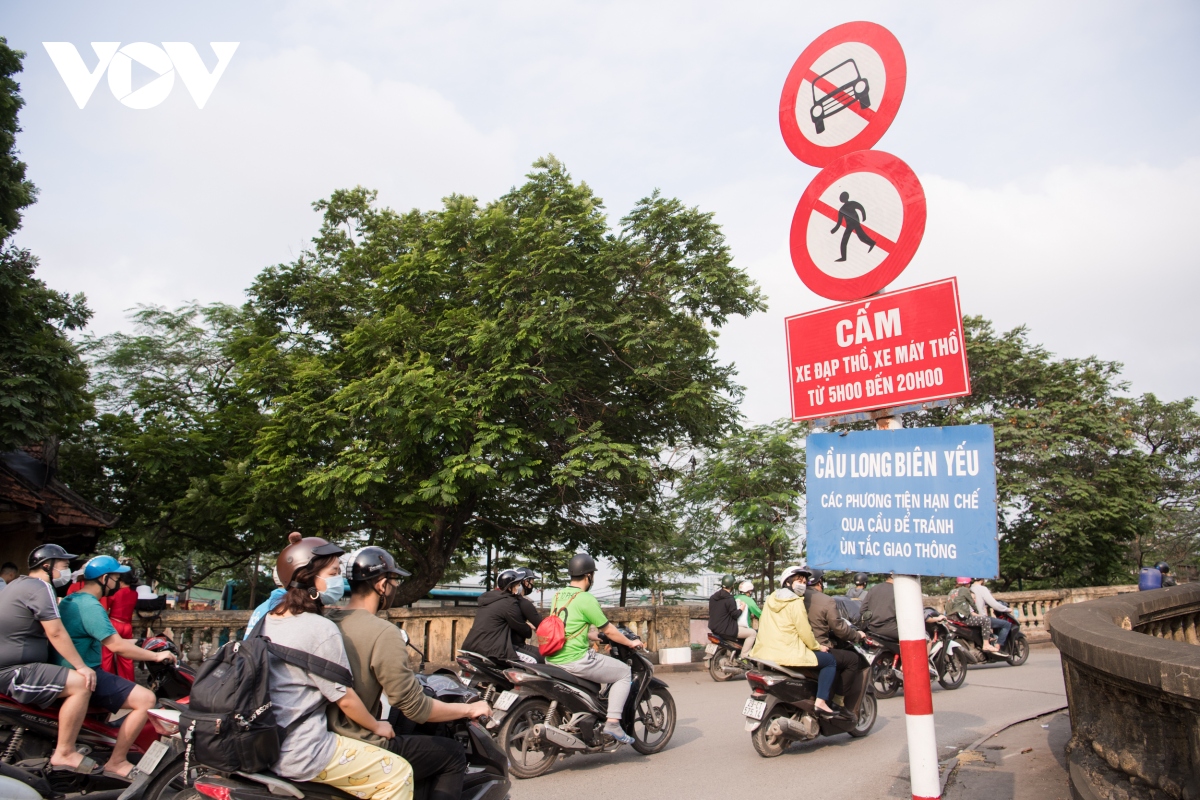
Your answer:
[[[287,728],[275,723],[270,693],[270,656],[343,686],[350,670],[302,650],[275,644],[262,634],[259,620],[244,642],[228,642],[200,664],[188,708],[180,714],[185,742],[185,775],[191,763],[222,772],[262,772],[280,759],[280,746],[296,726],[324,711],[325,700],[301,714]]]

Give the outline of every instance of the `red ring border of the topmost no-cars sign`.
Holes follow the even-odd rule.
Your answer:
[[[875,116],[858,136],[835,148],[822,148],[809,142],[800,133],[800,127],[796,122],[796,92],[812,62],[830,48],[844,42],[862,42],[880,54],[888,77],[887,91]],[[787,79],[784,80],[784,92],[779,97],[779,130],[784,134],[784,143],[793,156],[812,167],[826,167],[834,160],[856,150],[870,150],[892,127],[892,121],[895,120],[896,112],[900,110],[907,73],[908,68],[900,41],[883,25],[853,22],[830,28],[804,48],[787,73]]]

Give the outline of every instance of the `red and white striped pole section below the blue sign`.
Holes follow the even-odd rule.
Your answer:
[[[925,603],[920,578],[898,575],[893,578],[896,599],[896,627],[900,628],[900,661],[904,668],[904,714],[908,729],[908,777],[912,800],[942,796],[937,775],[937,736],[934,732],[934,693],[925,645]]]

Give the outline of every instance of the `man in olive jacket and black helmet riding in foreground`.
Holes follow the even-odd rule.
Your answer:
[[[403,633],[377,614],[391,606],[400,578],[408,572],[396,566],[391,553],[382,547],[364,547],[350,564],[350,600],[346,608],[325,612],[342,631],[354,691],[371,715],[379,717],[383,692],[388,703],[407,718],[420,724],[449,720],[478,718],[491,714],[487,703],[443,703],[427,697],[408,666],[408,646]],[[431,800],[458,800],[467,774],[462,746],[443,736],[396,736],[384,740],[349,720],[341,709],[329,706],[330,730],[385,747],[407,760],[414,781],[430,781]],[[398,722],[398,721],[397,721]],[[398,727],[398,726],[395,726]]]

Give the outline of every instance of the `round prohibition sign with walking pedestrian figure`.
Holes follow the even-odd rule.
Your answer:
[[[862,150],[812,179],[792,216],[792,265],[812,291],[858,300],[908,266],[925,234],[925,192],[895,156]]]

